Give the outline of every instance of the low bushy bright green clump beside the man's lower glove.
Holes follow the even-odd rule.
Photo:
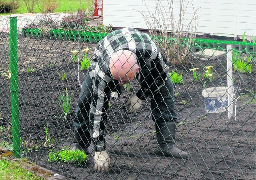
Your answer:
[[[49,153],[49,162],[70,162],[82,166],[87,161],[87,155],[80,150],[72,151],[71,149],[65,149],[63,151],[57,151],[56,153]]]

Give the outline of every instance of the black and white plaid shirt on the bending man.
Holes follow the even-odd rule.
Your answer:
[[[113,31],[102,39],[94,51],[91,59],[89,74],[93,79],[92,107],[90,119],[94,133],[92,137],[96,142],[95,151],[104,151],[106,112],[112,91],[118,91],[120,86],[110,74],[110,57],[118,50],[129,50],[136,55],[139,73],[136,75],[140,83],[140,90],[136,93],[138,98],[146,97],[164,85],[169,77],[168,61],[156,43],[148,34],[133,28],[124,28]]]

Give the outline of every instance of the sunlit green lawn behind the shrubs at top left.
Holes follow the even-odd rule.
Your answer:
[[[7,0],[7,2],[8,1],[10,0]],[[18,2],[20,3],[20,7],[17,10],[15,10],[15,12],[0,15],[23,14],[28,12],[24,0],[18,0]],[[84,7],[84,9],[86,10],[88,4],[87,0],[57,0],[57,2],[58,4],[60,4],[60,6],[58,6],[58,8],[56,8],[54,12],[76,12],[76,10],[78,10],[79,7]],[[89,5],[91,5],[92,0],[89,0],[89,2]],[[37,4],[35,4],[34,13],[41,13]]]

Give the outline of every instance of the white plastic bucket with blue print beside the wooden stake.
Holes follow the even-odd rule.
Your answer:
[[[205,110],[207,113],[216,114],[225,112],[228,108],[227,87],[206,88],[202,91],[205,98]]]

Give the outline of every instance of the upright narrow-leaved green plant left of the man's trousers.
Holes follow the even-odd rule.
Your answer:
[[[71,96],[69,97],[68,95],[68,88],[66,88],[66,93],[62,93],[59,96],[59,101],[60,101],[60,106],[62,107],[63,113],[60,115],[60,118],[63,118],[64,120],[67,119],[69,115],[69,109],[70,109],[70,104],[71,104]]]

